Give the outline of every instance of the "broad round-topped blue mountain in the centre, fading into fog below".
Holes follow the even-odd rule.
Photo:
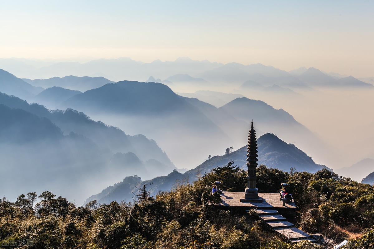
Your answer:
[[[309,138],[308,144],[318,140],[289,113],[264,102],[243,97],[217,109],[198,99],[178,96],[160,83],[107,84],[71,97],[60,106],[67,108],[82,110],[131,133],[141,131],[154,138],[183,168],[191,168],[227,147],[239,147],[246,140],[252,118],[259,125],[260,134],[276,132],[299,144],[305,138]],[[182,142],[183,150],[175,146]],[[194,151],[195,156],[186,157],[186,151]]]

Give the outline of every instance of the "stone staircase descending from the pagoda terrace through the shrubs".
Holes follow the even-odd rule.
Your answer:
[[[288,222],[287,219],[275,209],[256,209],[256,212],[258,216],[283,239],[292,243],[297,243],[301,240],[309,240],[313,243],[316,242],[310,234],[296,228],[294,224]]]

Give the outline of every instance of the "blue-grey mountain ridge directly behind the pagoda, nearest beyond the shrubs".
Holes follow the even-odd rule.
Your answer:
[[[158,191],[169,191],[176,181],[189,181],[190,183],[197,179],[197,175],[203,175],[212,168],[217,166],[224,166],[230,161],[234,161],[234,164],[240,168],[247,169],[246,167],[246,148],[244,146],[232,153],[223,156],[213,156],[206,160],[194,169],[190,169],[185,173],[173,171],[166,176],[156,177],[151,180],[141,181],[139,178],[126,177],[122,182],[116,183],[114,186],[110,186],[104,189],[101,193],[89,197],[85,203],[91,200],[97,200],[99,203],[109,203],[113,200],[132,200],[132,192],[137,192],[136,186],[142,186],[143,184],[150,184],[150,190],[152,194],[156,194]],[[306,153],[299,150],[293,144],[287,144],[280,140],[274,134],[264,134],[258,138],[258,163],[265,164],[269,167],[279,168],[285,171],[289,171],[291,167],[295,167],[297,171],[308,171],[316,172],[324,165],[317,165]]]

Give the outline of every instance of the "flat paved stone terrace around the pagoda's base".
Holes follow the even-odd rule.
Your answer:
[[[261,209],[294,209],[296,205],[294,202],[286,203],[283,206],[283,202],[279,200],[278,193],[258,193],[258,196],[265,199],[263,202],[240,202],[240,199],[244,198],[244,192],[222,192],[221,200],[222,203],[219,206],[231,206],[231,207],[242,207],[242,208],[261,208]]]

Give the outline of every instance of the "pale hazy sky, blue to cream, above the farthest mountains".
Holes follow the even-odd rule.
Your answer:
[[[374,1],[0,1],[0,57],[188,56],[374,76]]]

